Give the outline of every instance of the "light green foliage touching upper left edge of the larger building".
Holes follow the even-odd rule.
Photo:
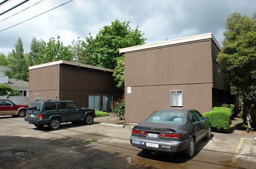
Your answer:
[[[124,56],[117,60],[117,67],[115,67],[113,77],[117,81],[117,87],[124,89]]]

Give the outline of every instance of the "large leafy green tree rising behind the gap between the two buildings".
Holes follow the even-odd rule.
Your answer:
[[[115,20],[111,22],[111,26],[100,29],[95,38],[89,33],[90,37],[86,38],[86,43],[82,43],[87,64],[114,69],[117,66],[117,60],[122,57],[119,48],[145,44],[147,39],[142,37],[144,33],[141,34],[139,26],[133,30],[129,23],[130,21]]]

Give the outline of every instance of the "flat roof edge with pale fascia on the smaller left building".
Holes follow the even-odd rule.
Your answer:
[[[39,65],[35,65],[35,66],[30,66],[30,67],[28,67],[28,70],[44,68],[44,67],[47,67],[47,66],[54,66],[54,65],[57,65],[57,64],[69,64],[69,65],[74,65],[74,66],[77,66],[77,67],[84,67],[84,68],[114,72],[113,69],[101,68],[101,67],[98,67],[98,66],[91,66],[91,65],[88,65],[88,64],[82,64],[82,63],[76,63],[76,62],[70,62],[70,61],[64,61],[64,60],[39,64]]]

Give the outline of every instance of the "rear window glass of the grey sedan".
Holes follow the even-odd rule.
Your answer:
[[[160,123],[184,123],[184,112],[154,112],[145,121]]]

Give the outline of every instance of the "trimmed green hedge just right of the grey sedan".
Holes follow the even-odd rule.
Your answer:
[[[210,112],[205,112],[203,116],[209,118],[213,130],[224,131],[230,127],[232,109],[227,107],[213,107]]]

